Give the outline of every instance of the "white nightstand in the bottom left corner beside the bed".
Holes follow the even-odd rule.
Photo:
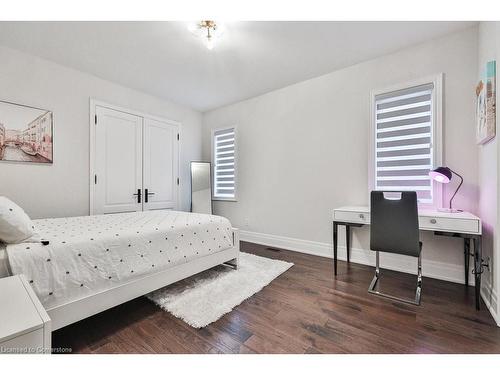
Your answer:
[[[50,353],[50,318],[23,275],[0,279],[0,353]]]

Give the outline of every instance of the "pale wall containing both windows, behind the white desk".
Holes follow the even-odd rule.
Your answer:
[[[441,72],[443,162],[464,176],[455,206],[477,212],[477,28],[472,28],[205,113],[206,159],[210,130],[238,126],[238,201],[217,202],[216,213],[252,232],[243,238],[330,255],[332,209],[368,204],[370,91]],[[343,233],[340,238],[343,242]],[[424,274],[463,280],[460,239],[429,233],[423,241]],[[355,230],[355,260],[371,261],[368,242],[367,228]],[[398,262],[392,267],[416,267],[411,260]]]

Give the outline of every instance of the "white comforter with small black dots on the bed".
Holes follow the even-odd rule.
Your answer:
[[[178,211],[34,220],[41,243],[7,245],[46,309],[232,246],[223,217]]]

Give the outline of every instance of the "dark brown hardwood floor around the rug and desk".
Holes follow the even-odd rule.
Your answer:
[[[367,293],[373,268],[241,243],[295,265],[203,329],[138,298],[53,333],[73,353],[500,353],[500,327],[474,290],[424,278],[422,304]],[[415,276],[385,271],[382,287],[411,297]],[[391,290],[388,290],[391,289]]]

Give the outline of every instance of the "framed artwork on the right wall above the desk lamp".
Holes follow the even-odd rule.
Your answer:
[[[496,134],[496,62],[489,61],[476,86],[476,141],[485,144]]]

